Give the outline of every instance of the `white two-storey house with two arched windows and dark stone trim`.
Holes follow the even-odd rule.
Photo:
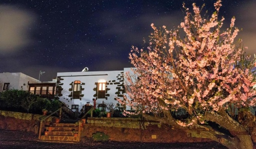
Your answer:
[[[124,71],[82,71],[57,73],[55,96],[73,111],[84,109],[86,104],[95,107],[118,104],[123,99]],[[106,109],[107,110],[107,109]]]

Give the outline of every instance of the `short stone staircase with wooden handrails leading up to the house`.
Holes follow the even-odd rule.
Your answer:
[[[78,126],[74,123],[53,123],[52,128],[49,127],[49,131],[45,131],[40,140],[67,143],[79,141],[78,136],[74,136],[73,130],[78,133]]]

